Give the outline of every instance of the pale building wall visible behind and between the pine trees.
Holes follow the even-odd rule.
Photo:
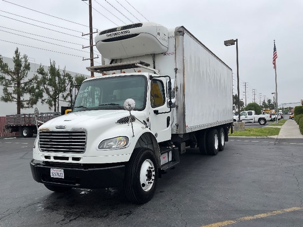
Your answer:
[[[2,57],[3,61],[8,64],[9,68],[11,68],[11,69],[14,68],[14,63],[13,63],[13,59],[12,58],[3,57],[3,56],[1,56],[1,57]],[[37,74],[36,71],[37,71],[37,69],[39,69],[40,64],[36,64],[36,63],[30,62],[30,66],[31,66],[31,69],[28,72],[28,77],[27,78],[31,78],[34,74]],[[49,66],[45,66],[45,65],[42,65],[42,66],[44,66],[45,71],[48,70]],[[56,67],[58,67],[58,66],[60,66],[60,71],[63,71],[62,68],[64,68],[64,64],[61,65],[58,62],[56,62]],[[79,73],[70,72],[70,71],[66,71],[66,73],[70,73],[73,77],[76,74],[79,74]],[[86,76],[87,76],[87,78],[89,77],[88,75],[86,75]],[[0,97],[3,95],[2,89],[3,89],[3,86],[0,85]],[[68,105],[68,103],[60,101],[59,102],[59,111],[61,110],[61,108],[60,108],[61,106],[67,106],[67,105]],[[39,101],[32,108],[21,109],[21,113],[33,113],[35,107],[38,107],[39,110],[40,110],[40,112],[53,111],[53,107],[52,107],[51,110],[49,110],[47,104],[41,104],[41,101]],[[5,116],[5,115],[8,115],[8,114],[16,114],[16,113],[17,113],[17,103],[15,103],[15,102],[5,103],[3,101],[0,101],[0,116]]]

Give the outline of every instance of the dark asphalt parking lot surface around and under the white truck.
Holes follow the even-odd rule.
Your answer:
[[[0,139],[0,226],[302,226],[303,141],[230,138],[187,149],[147,204],[121,188],[58,194],[32,179],[34,138]]]

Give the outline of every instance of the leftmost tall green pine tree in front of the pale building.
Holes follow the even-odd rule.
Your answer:
[[[20,114],[21,109],[37,104],[43,94],[36,75],[27,79],[28,71],[31,69],[27,55],[21,56],[19,49],[16,48],[13,62],[14,69],[10,69],[0,57],[0,85],[3,86],[3,95],[0,99],[6,103],[15,102],[17,114]]]

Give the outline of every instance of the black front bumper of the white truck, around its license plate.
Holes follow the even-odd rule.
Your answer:
[[[32,177],[36,182],[57,186],[78,188],[106,188],[121,186],[124,179],[125,165],[100,167],[102,165],[81,167],[66,166],[64,163],[30,162]],[[105,166],[105,165],[104,165]],[[63,169],[64,179],[50,177],[50,169]]]

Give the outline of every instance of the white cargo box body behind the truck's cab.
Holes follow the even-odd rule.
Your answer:
[[[182,134],[233,122],[232,69],[185,27],[168,30],[166,52],[117,58],[113,63],[138,60],[149,63],[151,68],[160,71],[160,75],[175,79],[177,107],[171,113],[172,133]],[[109,65],[111,61],[102,57],[103,65]],[[143,68],[135,70],[139,69],[154,73]],[[134,69],[108,73],[122,71],[131,73]]]

